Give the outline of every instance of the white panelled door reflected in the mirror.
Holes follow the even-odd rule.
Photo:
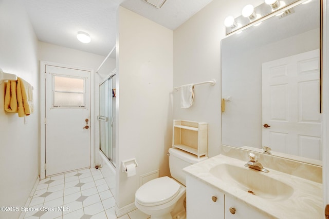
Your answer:
[[[319,50],[263,63],[263,146],[322,160],[319,65]]]

